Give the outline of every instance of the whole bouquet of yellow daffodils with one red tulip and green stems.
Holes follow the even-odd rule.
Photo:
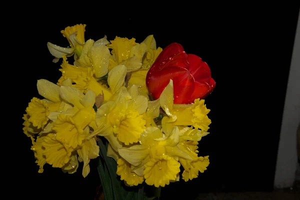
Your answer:
[[[62,74],[37,80],[40,97],[23,115],[38,172],[47,163],[74,173],[83,162],[85,177],[97,158],[105,199],[153,199],[204,172],[209,159],[197,144],[211,123],[203,98],[215,86],[207,63],[178,43],[156,47],[153,35],[85,40],[84,31],[61,30],[70,47],[47,43]]]

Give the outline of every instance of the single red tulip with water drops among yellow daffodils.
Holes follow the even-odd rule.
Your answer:
[[[146,85],[154,99],[159,98],[170,79],[176,104],[202,99],[215,87],[207,63],[197,55],[186,54],[178,43],[166,46],[147,73]]]

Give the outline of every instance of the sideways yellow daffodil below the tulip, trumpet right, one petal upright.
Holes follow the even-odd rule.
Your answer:
[[[207,114],[210,109],[206,108],[204,99],[197,98],[191,104],[173,104],[173,81],[171,79],[161,92],[159,101],[161,108],[167,114],[161,120],[163,132],[169,133],[174,125],[192,125],[196,129],[208,130],[211,120]]]

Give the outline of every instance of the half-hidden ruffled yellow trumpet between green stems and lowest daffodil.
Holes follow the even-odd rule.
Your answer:
[[[120,175],[120,179],[124,180],[129,186],[138,185],[144,180],[143,176],[131,172],[130,164],[122,158],[117,160],[116,174]]]

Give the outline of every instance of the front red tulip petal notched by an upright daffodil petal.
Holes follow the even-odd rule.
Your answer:
[[[163,68],[159,73],[149,76],[148,90],[151,96],[159,98],[170,79],[173,80],[174,103],[187,103],[194,90],[194,79],[186,68],[178,66]]]

